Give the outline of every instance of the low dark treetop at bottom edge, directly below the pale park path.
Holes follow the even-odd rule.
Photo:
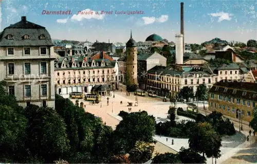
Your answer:
[[[182,162],[180,161],[178,154],[164,153],[164,154],[157,154],[153,158],[152,163],[182,163]]]

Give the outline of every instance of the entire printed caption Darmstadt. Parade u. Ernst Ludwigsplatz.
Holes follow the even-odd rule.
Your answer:
[[[43,10],[42,15],[70,15],[72,12],[70,10],[59,10],[59,11],[47,11]],[[129,10],[111,10],[111,11],[91,11],[91,10],[83,10],[78,11],[78,15],[93,15],[93,14],[102,14],[102,15],[112,15],[112,14],[123,14],[123,15],[133,15],[133,14],[144,14],[144,11],[142,10],[135,10],[135,11],[129,11]]]

